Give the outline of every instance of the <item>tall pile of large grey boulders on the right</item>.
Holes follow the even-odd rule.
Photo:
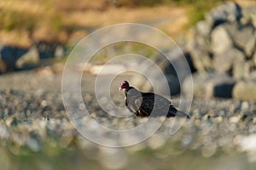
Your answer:
[[[187,50],[197,70],[195,97],[256,100],[256,6],[213,9],[195,26]]]

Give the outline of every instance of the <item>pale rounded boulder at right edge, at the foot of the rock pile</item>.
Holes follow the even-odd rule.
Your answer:
[[[237,82],[232,94],[234,99],[256,101],[256,82]]]

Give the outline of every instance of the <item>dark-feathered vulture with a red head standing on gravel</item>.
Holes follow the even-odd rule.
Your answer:
[[[154,93],[143,93],[130,86],[129,82],[123,81],[119,85],[119,91],[125,90],[125,106],[136,116],[150,116],[151,112],[156,111],[154,116],[181,116],[190,118],[183,111],[178,111],[169,99]],[[166,113],[166,109],[168,112]]]

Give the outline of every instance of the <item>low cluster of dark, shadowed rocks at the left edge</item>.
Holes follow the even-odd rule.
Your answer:
[[[65,48],[58,43],[35,42],[31,48],[19,48],[0,44],[0,73],[35,68],[40,59],[65,56]]]

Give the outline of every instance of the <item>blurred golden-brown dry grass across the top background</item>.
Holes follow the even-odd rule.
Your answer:
[[[237,0],[250,5],[253,0]],[[179,37],[188,26],[188,8],[173,3],[115,8],[105,0],[1,0],[0,42],[27,47],[35,40],[67,42],[98,27],[143,23]],[[191,14],[190,14],[191,15]]]

